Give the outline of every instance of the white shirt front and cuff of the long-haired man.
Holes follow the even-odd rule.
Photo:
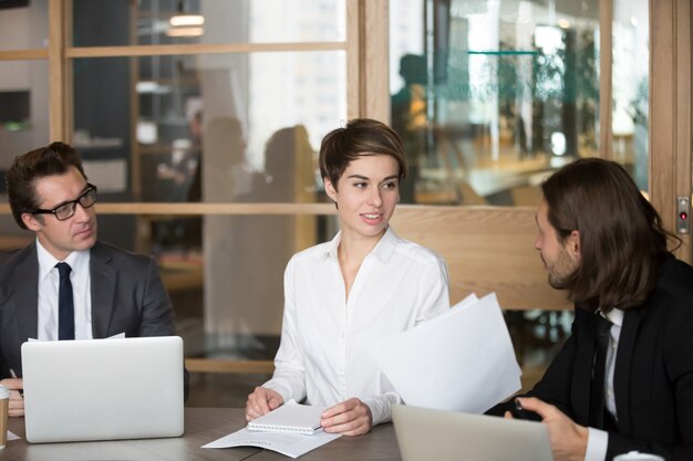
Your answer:
[[[601,315],[601,314],[600,314]],[[619,337],[621,336],[621,327],[623,326],[623,311],[612,308],[608,314],[603,315],[611,322],[609,329],[609,348],[607,349],[607,373],[604,374],[604,404],[607,410],[613,416],[616,421],[619,420],[616,412],[616,396],[613,394],[613,370],[616,367],[616,353],[619,348]],[[609,433],[607,431],[588,428],[587,451],[585,452],[585,461],[604,461],[607,459],[607,446],[609,444]]]

